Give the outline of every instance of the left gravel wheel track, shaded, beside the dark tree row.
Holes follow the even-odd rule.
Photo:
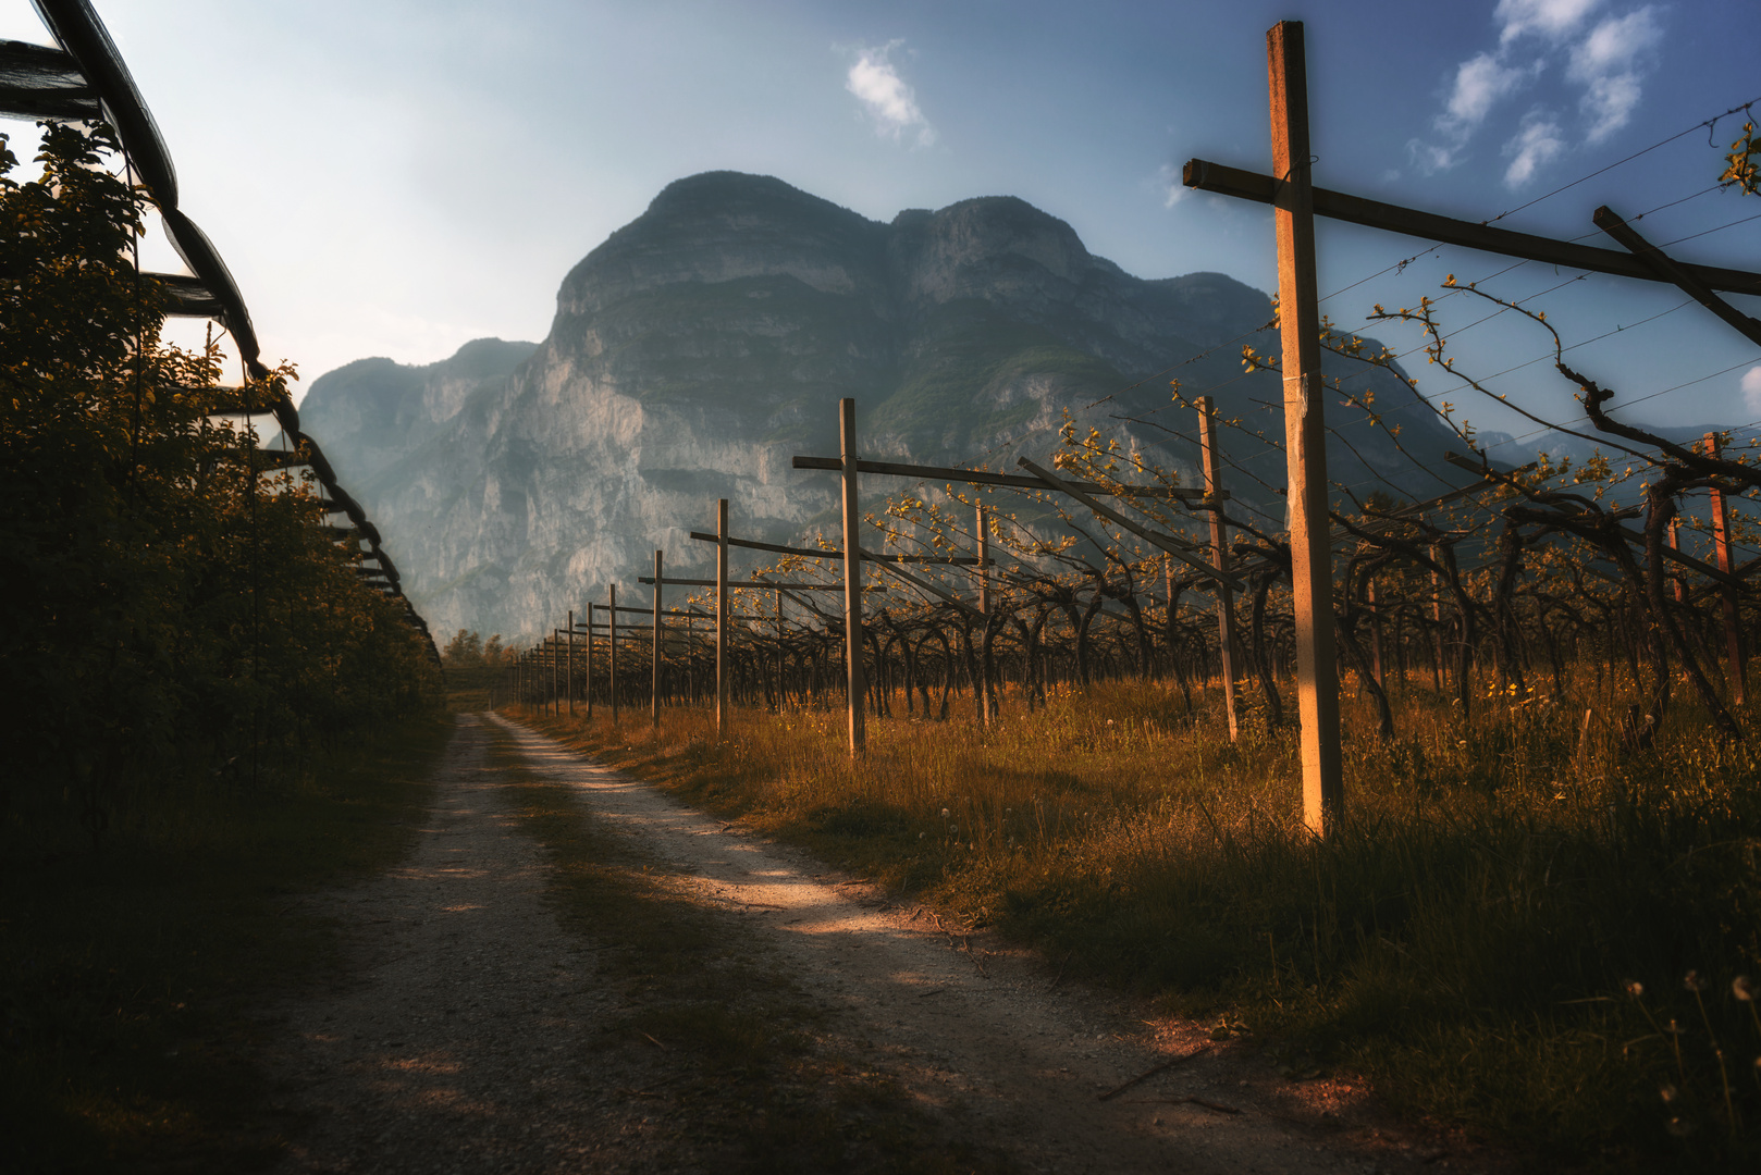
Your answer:
[[[659,1127],[615,1096],[641,1075],[595,1048],[620,1004],[544,900],[488,742],[460,717],[410,860],[321,900],[350,981],[282,1013],[284,1173],[601,1171],[653,1150]]]

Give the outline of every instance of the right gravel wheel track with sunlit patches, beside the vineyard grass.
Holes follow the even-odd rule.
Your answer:
[[[1393,1127],[1351,1078],[1291,1083],[1270,1060],[1212,1045],[1205,1027],[1148,1022],[1127,1002],[861,879],[759,840],[599,766],[498,713],[528,770],[578,789],[593,816],[775,951],[833,1009],[829,1032],[928,1108],[958,1106],[1028,1170],[1502,1170]],[[689,1122],[685,1124],[689,1129]]]

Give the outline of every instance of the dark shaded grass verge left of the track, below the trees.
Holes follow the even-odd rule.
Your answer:
[[[273,794],[137,798],[95,849],[79,828],[5,824],[0,1168],[276,1159],[261,1011],[336,958],[298,898],[403,856],[449,731],[410,721]]]

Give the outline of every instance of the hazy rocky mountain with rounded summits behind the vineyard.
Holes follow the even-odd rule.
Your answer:
[[[350,363],[313,381],[301,419],[438,632],[532,636],[608,583],[634,588],[655,548],[701,574],[708,551],[687,532],[713,528],[718,497],[740,536],[833,532],[836,477],[789,458],[836,453],[840,396],[858,402],[863,456],[1007,469],[1055,449],[1071,409],[1199,484],[1169,381],[1282,442],[1277,373],[1240,359],[1243,342],[1277,351],[1256,333],[1270,319],[1259,291],[1132,277],[1014,197],[882,224],[720,171],[671,183],[574,266],[542,344]],[[1398,381],[1347,366],[1398,418]],[[1349,442],[1331,449],[1337,481],[1440,490],[1361,410],[1335,396],[1328,414]],[[1451,444],[1428,414],[1405,419],[1400,446],[1421,463],[1448,469]],[[1282,456],[1226,449],[1229,490],[1278,511]],[[865,506],[910,488],[870,479]]]

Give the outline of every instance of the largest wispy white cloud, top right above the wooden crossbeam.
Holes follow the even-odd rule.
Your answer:
[[[1423,174],[1460,166],[1493,113],[1557,65],[1566,83],[1581,88],[1576,129],[1530,109],[1504,143],[1509,187],[1529,183],[1574,144],[1594,146],[1625,127],[1662,26],[1652,4],[1597,19],[1603,7],[1604,0],[1499,0],[1492,12],[1497,48],[1456,65],[1432,134],[1407,143],[1412,166]]]

